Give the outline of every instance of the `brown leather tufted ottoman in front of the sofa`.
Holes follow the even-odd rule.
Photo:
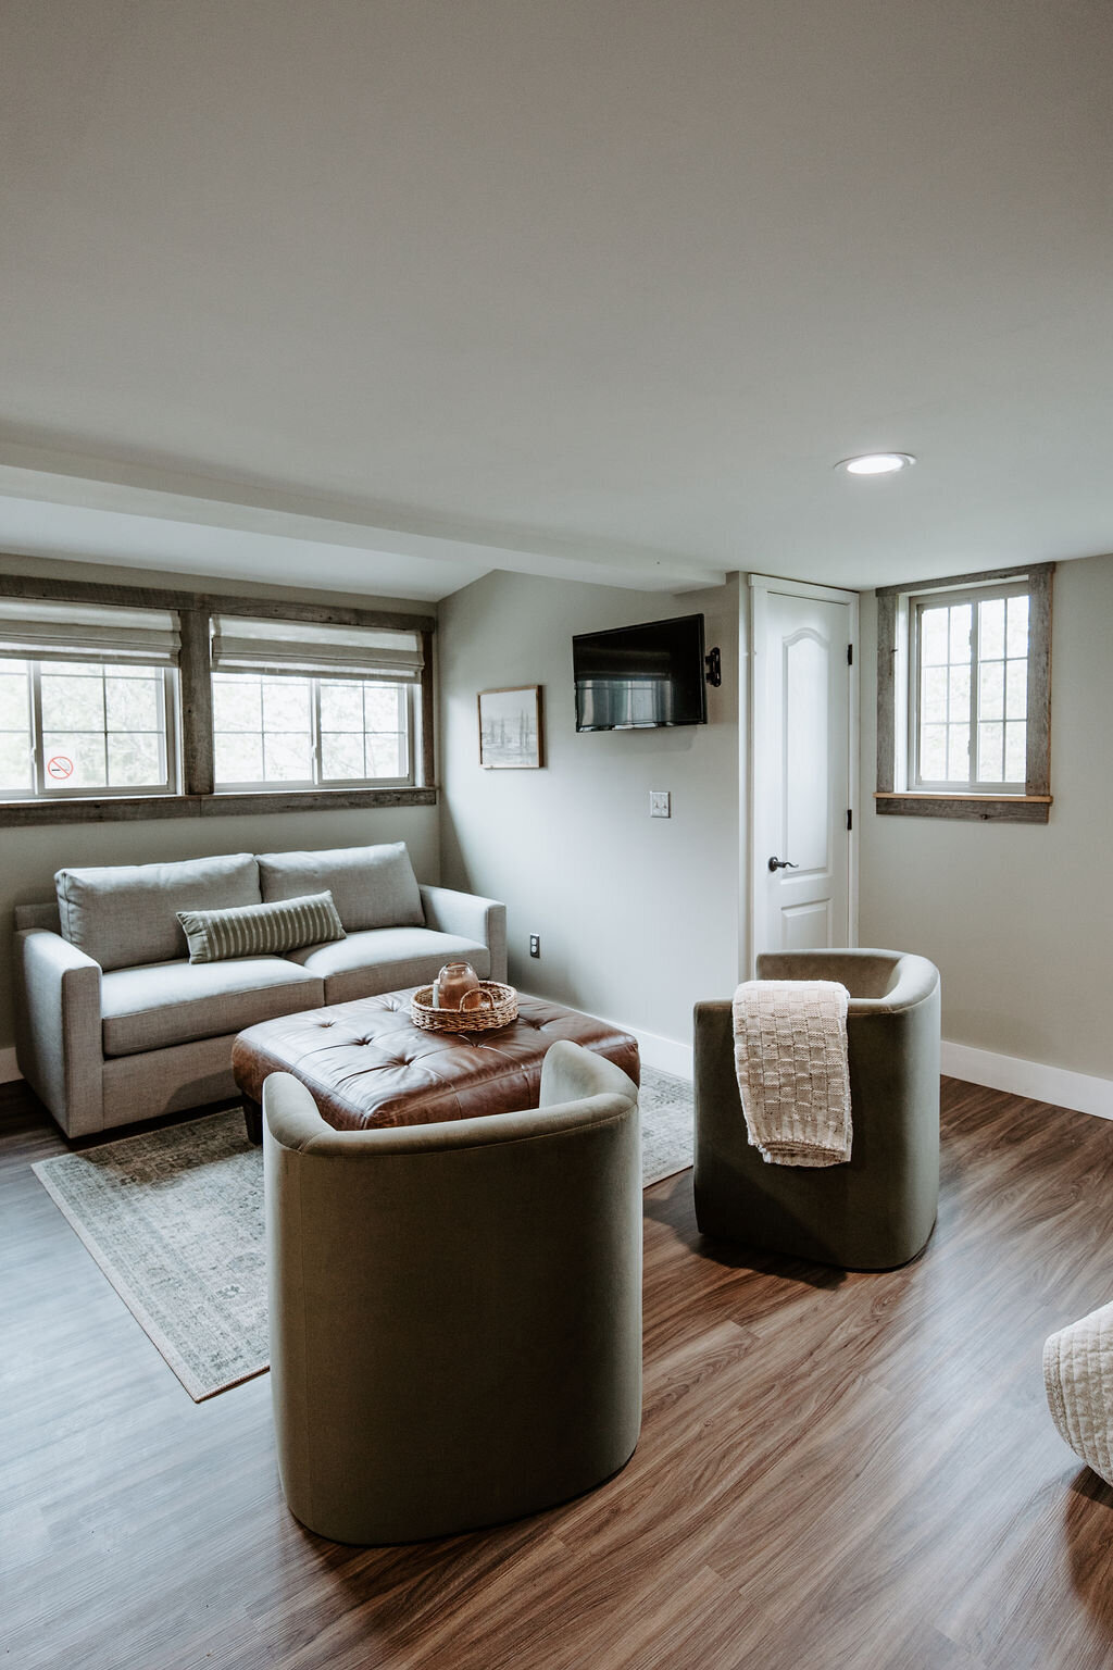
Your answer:
[[[639,1080],[637,1044],[607,1020],[519,997],[517,1020],[497,1032],[422,1032],[409,1017],[412,995],[384,992],[240,1032],[232,1072],[252,1142],[262,1141],[262,1086],[270,1072],[300,1079],[337,1131],[536,1107],[541,1062],[557,1039],[597,1050]]]

